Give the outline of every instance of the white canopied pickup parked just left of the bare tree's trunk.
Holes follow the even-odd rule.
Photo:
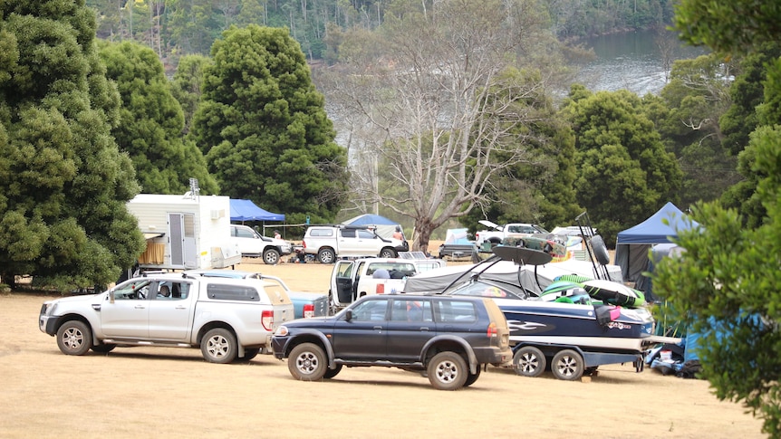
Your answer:
[[[410,250],[407,241],[383,238],[365,225],[312,225],[304,233],[304,253],[333,263],[341,257],[395,258]]]

